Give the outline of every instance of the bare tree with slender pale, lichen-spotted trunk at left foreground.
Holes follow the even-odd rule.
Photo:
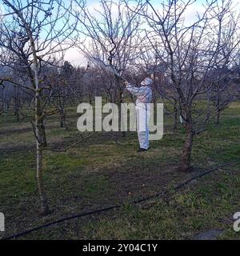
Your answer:
[[[28,91],[34,99],[34,117],[32,124],[36,138],[36,162],[38,191],[41,198],[41,214],[49,213],[46,191],[43,186],[43,151],[47,146],[45,119],[53,114],[47,110],[48,99],[53,95],[53,86],[46,85],[43,70],[54,66],[58,54],[62,54],[70,45],[66,40],[74,34],[77,24],[70,18],[64,6],[65,2],[55,0],[3,0],[6,13],[0,24],[0,54],[1,62],[12,72],[0,78],[0,83],[10,82],[22,90]],[[2,58],[8,54],[8,58]],[[18,62],[18,72],[25,78],[14,76],[15,63]]]

